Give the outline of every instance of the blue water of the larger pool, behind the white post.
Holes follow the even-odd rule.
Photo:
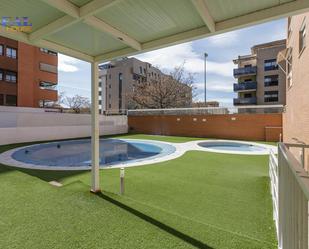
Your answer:
[[[100,165],[135,162],[161,157],[174,151],[174,146],[160,142],[101,139]],[[91,141],[85,139],[33,145],[14,152],[12,157],[17,161],[34,165],[90,167]]]

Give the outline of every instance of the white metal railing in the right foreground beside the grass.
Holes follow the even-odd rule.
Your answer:
[[[309,175],[283,143],[269,165],[279,248],[308,249]]]

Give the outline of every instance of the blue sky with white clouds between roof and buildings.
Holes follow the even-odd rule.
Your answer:
[[[135,56],[158,66],[164,72],[184,63],[194,75],[195,101],[204,100],[204,53],[207,58],[207,101],[216,100],[221,106],[231,106],[233,98],[233,59],[250,54],[256,44],[284,39],[286,19],[199,39]],[[90,97],[90,64],[62,54],[58,56],[58,89],[72,96]]]

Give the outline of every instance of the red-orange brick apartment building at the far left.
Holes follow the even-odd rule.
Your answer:
[[[57,101],[58,56],[0,36],[0,106],[46,107]]]

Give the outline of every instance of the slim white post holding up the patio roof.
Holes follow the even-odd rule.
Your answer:
[[[91,192],[100,191],[99,69],[91,63]]]

